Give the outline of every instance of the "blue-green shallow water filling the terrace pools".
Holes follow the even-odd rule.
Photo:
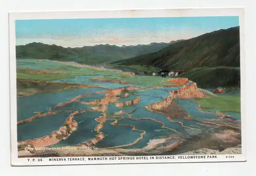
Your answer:
[[[28,61],[29,62],[29,61]],[[40,62],[33,61],[35,65],[32,65],[32,69],[40,67]],[[26,66],[26,67],[25,67]],[[30,66],[24,65],[19,63],[18,61],[18,68],[28,68]],[[90,78],[102,78],[103,76],[78,76],[74,78],[68,79],[60,79],[55,81],[62,81],[62,82],[69,82],[69,83],[80,83],[80,84],[93,84],[99,85],[103,87],[107,87],[110,89],[115,89],[118,87],[125,87],[133,84],[118,84],[118,83],[111,83],[111,82],[100,82],[100,81],[92,81]],[[150,81],[145,80],[145,78],[137,78],[131,77],[127,78],[130,80],[137,80],[137,81],[145,81],[145,85],[150,85]],[[159,78],[152,78],[157,84]],[[142,82],[143,83],[143,82]],[[141,82],[136,83],[142,84]],[[135,84],[134,84],[135,85]],[[153,86],[153,85],[152,85]],[[155,85],[154,85],[155,86]],[[125,107],[117,107],[114,103],[108,105],[108,109],[106,115],[113,116],[114,113],[119,111],[123,111],[124,113],[131,113],[132,118],[140,119],[140,118],[153,118],[157,121],[164,123],[165,127],[172,128],[174,130],[179,131],[185,135],[199,135],[200,131],[207,131],[209,127],[203,127],[200,123],[196,121],[188,121],[184,119],[173,119],[178,122],[184,123],[185,126],[197,126],[193,130],[188,130],[181,127],[180,124],[170,122],[166,116],[147,111],[145,106],[148,104],[156,103],[162,101],[164,98],[169,96],[169,91],[178,90],[180,87],[162,87],[159,89],[148,90],[144,92],[136,92],[133,91],[134,94],[130,95],[126,98],[120,98],[118,102],[126,102],[135,99],[136,97],[140,96],[141,101],[138,104],[129,105]],[[97,88],[97,87],[89,87],[84,89],[73,89],[68,91],[62,92],[49,92],[44,94],[35,94],[32,96],[27,97],[18,97],[17,99],[17,119],[24,120],[28,119],[35,115],[35,112],[47,112],[53,106],[61,103],[69,101],[70,99],[81,95],[81,94],[88,94],[94,93],[99,91],[105,91],[106,89]],[[81,97],[78,102],[72,102],[70,104],[54,108],[52,111],[59,111],[59,110],[67,110],[67,111],[77,111],[81,109],[89,110],[91,108],[90,105],[81,104],[81,102],[91,102],[94,100],[100,100],[105,98],[105,93],[103,94],[95,94],[91,96]],[[210,113],[203,113],[199,111],[197,108],[197,104],[182,100],[176,99],[175,100],[178,105],[184,109],[185,112],[191,115],[192,118],[200,119],[200,120],[212,120],[217,119],[216,115]],[[50,115],[38,119],[34,119],[30,123],[20,124],[17,127],[18,130],[18,141],[20,140],[28,140],[33,138],[42,137],[45,135],[50,134],[52,131],[57,130],[60,126],[63,125],[67,117],[70,113],[59,113],[56,115]],[[241,115],[236,113],[226,113],[231,115],[233,118],[241,119]],[[81,142],[86,142],[95,137],[96,132],[94,131],[95,126],[98,124],[95,119],[101,116],[100,112],[87,112],[78,114],[74,117],[74,120],[78,123],[77,130],[66,140],[59,142],[58,146],[66,146],[66,145],[76,145]],[[160,123],[157,123],[152,120],[131,120],[125,114],[116,115],[118,117],[123,117],[122,120],[118,121],[118,124],[126,124],[126,125],[133,125],[136,129],[144,130],[145,135],[143,139],[141,139],[135,145],[126,148],[143,148],[146,144],[153,138],[159,137],[168,137],[172,134],[176,134],[175,131],[162,128]],[[109,117],[110,118],[110,117]],[[134,131],[130,126],[114,126],[112,123],[113,120],[107,120],[104,123],[103,128],[101,129],[102,133],[105,134],[105,138],[100,141],[96,146],[97,147],[112,147],[117,145],[125,145],[133,143],[136,139],[140,137],[141,131]],[[204,129],[204,130],[201,130]]]

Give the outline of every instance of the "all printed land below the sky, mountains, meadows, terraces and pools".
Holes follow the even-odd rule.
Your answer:
[[[16,69],[19,157],[241,153],[239,26],[150,45],[31,42]]]

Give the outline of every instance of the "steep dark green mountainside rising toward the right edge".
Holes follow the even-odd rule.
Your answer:
[[[156,52],[114,61],[112,64],[151,65],[182,70],[197,67],[240,67],[239,27],[206,33]]]

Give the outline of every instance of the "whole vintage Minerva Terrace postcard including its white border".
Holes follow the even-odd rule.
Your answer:
[[[13,166],[246,161],[243,8],[9,17]]]

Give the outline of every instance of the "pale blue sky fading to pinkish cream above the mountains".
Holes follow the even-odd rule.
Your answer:
[[[16,45],[63,47],[169,42],[239,26],[238,16],[16,20]]]

